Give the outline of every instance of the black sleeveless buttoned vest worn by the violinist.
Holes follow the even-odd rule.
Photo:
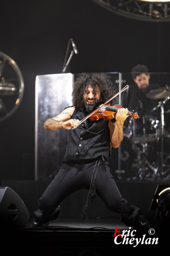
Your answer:
[[[82,120],[84,117],[86,117],[85,112],[76,107],[72,118]],[[102,118],[98,121],[90,121],[87,119],[76,129],[69,130],[64,161],[80,161],[101,155],[108,160],[109,154],[110,134],[107,120]]]

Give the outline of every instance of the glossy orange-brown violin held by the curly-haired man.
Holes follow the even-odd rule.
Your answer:
[[[120,108],[122,108],[121,105],[114,105],[114,106],[110,106],[110,104],[103,105],[101,108],[97,109],[96,111],[93,111],[93,114],[90,115],[88,119],[90,121],[96,121],[101,118],[103,118],[104,120],[111,120],[115,118],[117,114],[117,110],[119,110]],[[134,119],[139,118],[137,112],[133,113],[128,110],[127,114],[133,117]]]

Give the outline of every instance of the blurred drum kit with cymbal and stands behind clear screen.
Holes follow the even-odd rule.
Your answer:
[[[164,123],[164,115],[170,113],[170,110],[164,111],[164,105],[170,99],[169,90],[170,87],[165,86],[146,94],[149,99],[160,100],[152,110],[160,109],[160,118],[143,115],[129,121],[120,154],[121,161],[127,165],[124,156],[131,149],[125,150],[124,145],[130,142],[133,154],[129,155],[127,180],[170,180],[170,130],[169,127],[165,129]]]

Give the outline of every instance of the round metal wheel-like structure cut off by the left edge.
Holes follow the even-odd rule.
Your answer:
[[[10,117],[21,103],[24,82],[16,62],[0,52],[0,121]]]

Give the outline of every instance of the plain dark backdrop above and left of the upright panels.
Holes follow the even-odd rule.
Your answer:
[[[0,180],[34,175],[35,77],[62,72],[70,38],[79,53],[66,72],[130,72],[139,63],[170,72],[170,22],[126,18],[90,0],[4,0],[0,28],[0,51],[25,84],[20,107],[0,122]]]

